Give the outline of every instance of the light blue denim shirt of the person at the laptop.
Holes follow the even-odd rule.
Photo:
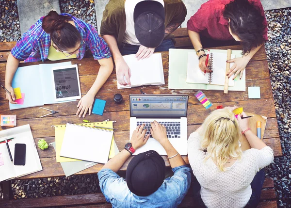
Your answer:
[[[166,178],[162,186],[148,196],[137,196],[130,192],[126,180],[111,169],[99,171],[99,185],[113,208],[176,208],[190,187],[191,168],[182,165],[172,170],[174,176]]]

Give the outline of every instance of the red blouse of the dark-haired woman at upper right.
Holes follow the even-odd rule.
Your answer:
[[[209,0],[202,4],[200,9],[198,9],[188,20],[188,30],[199,32],[203,36],[216,40],[231,40],[233,37],[228,31],[228,20],[223,17],[225,5],[230,1],[231,0]],[[265,16],[260,0],[249,0],[249,2],[258,7],[261,15]],[[263,24],[265,26],[263,38],[265,41],[268,41],[266,17]]]

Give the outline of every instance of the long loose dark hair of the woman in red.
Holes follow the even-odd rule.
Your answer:
[[[252,48],[264,43],[263,25],[264,16],[260,14],[259,8],[248,0],[233,0],[226,4],[223,16],[228,20],[232,33],[242,40],[242,53],[247,55]]]

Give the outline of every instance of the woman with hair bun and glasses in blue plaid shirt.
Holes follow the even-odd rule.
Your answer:
[[[97,78],[85,96],[79,101],[77,115],[91,114],[95,95],[113,71],[113,61],[106,42],[98,36],[92,25],[69,14],[50,11],[23,33],[20,41],[8,56],[5,74],[6,99],[16,104],[12,80],[20,61],[38,62],[77,58],[81,60],[90,49],[100,64]]]

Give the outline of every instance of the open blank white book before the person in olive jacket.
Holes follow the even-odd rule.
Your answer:
[[[126,55],[123,56],[123,58],[128,64],[131,72],[131,86],[122,86],[117,81],[118,89],[138,87],[142,85],[165,84],[162,67],[162,53],[154,53],[149,58],[140,59],[139,61],[135,58],[135,54]],[[124,80],[126,81],[125,77]]]

